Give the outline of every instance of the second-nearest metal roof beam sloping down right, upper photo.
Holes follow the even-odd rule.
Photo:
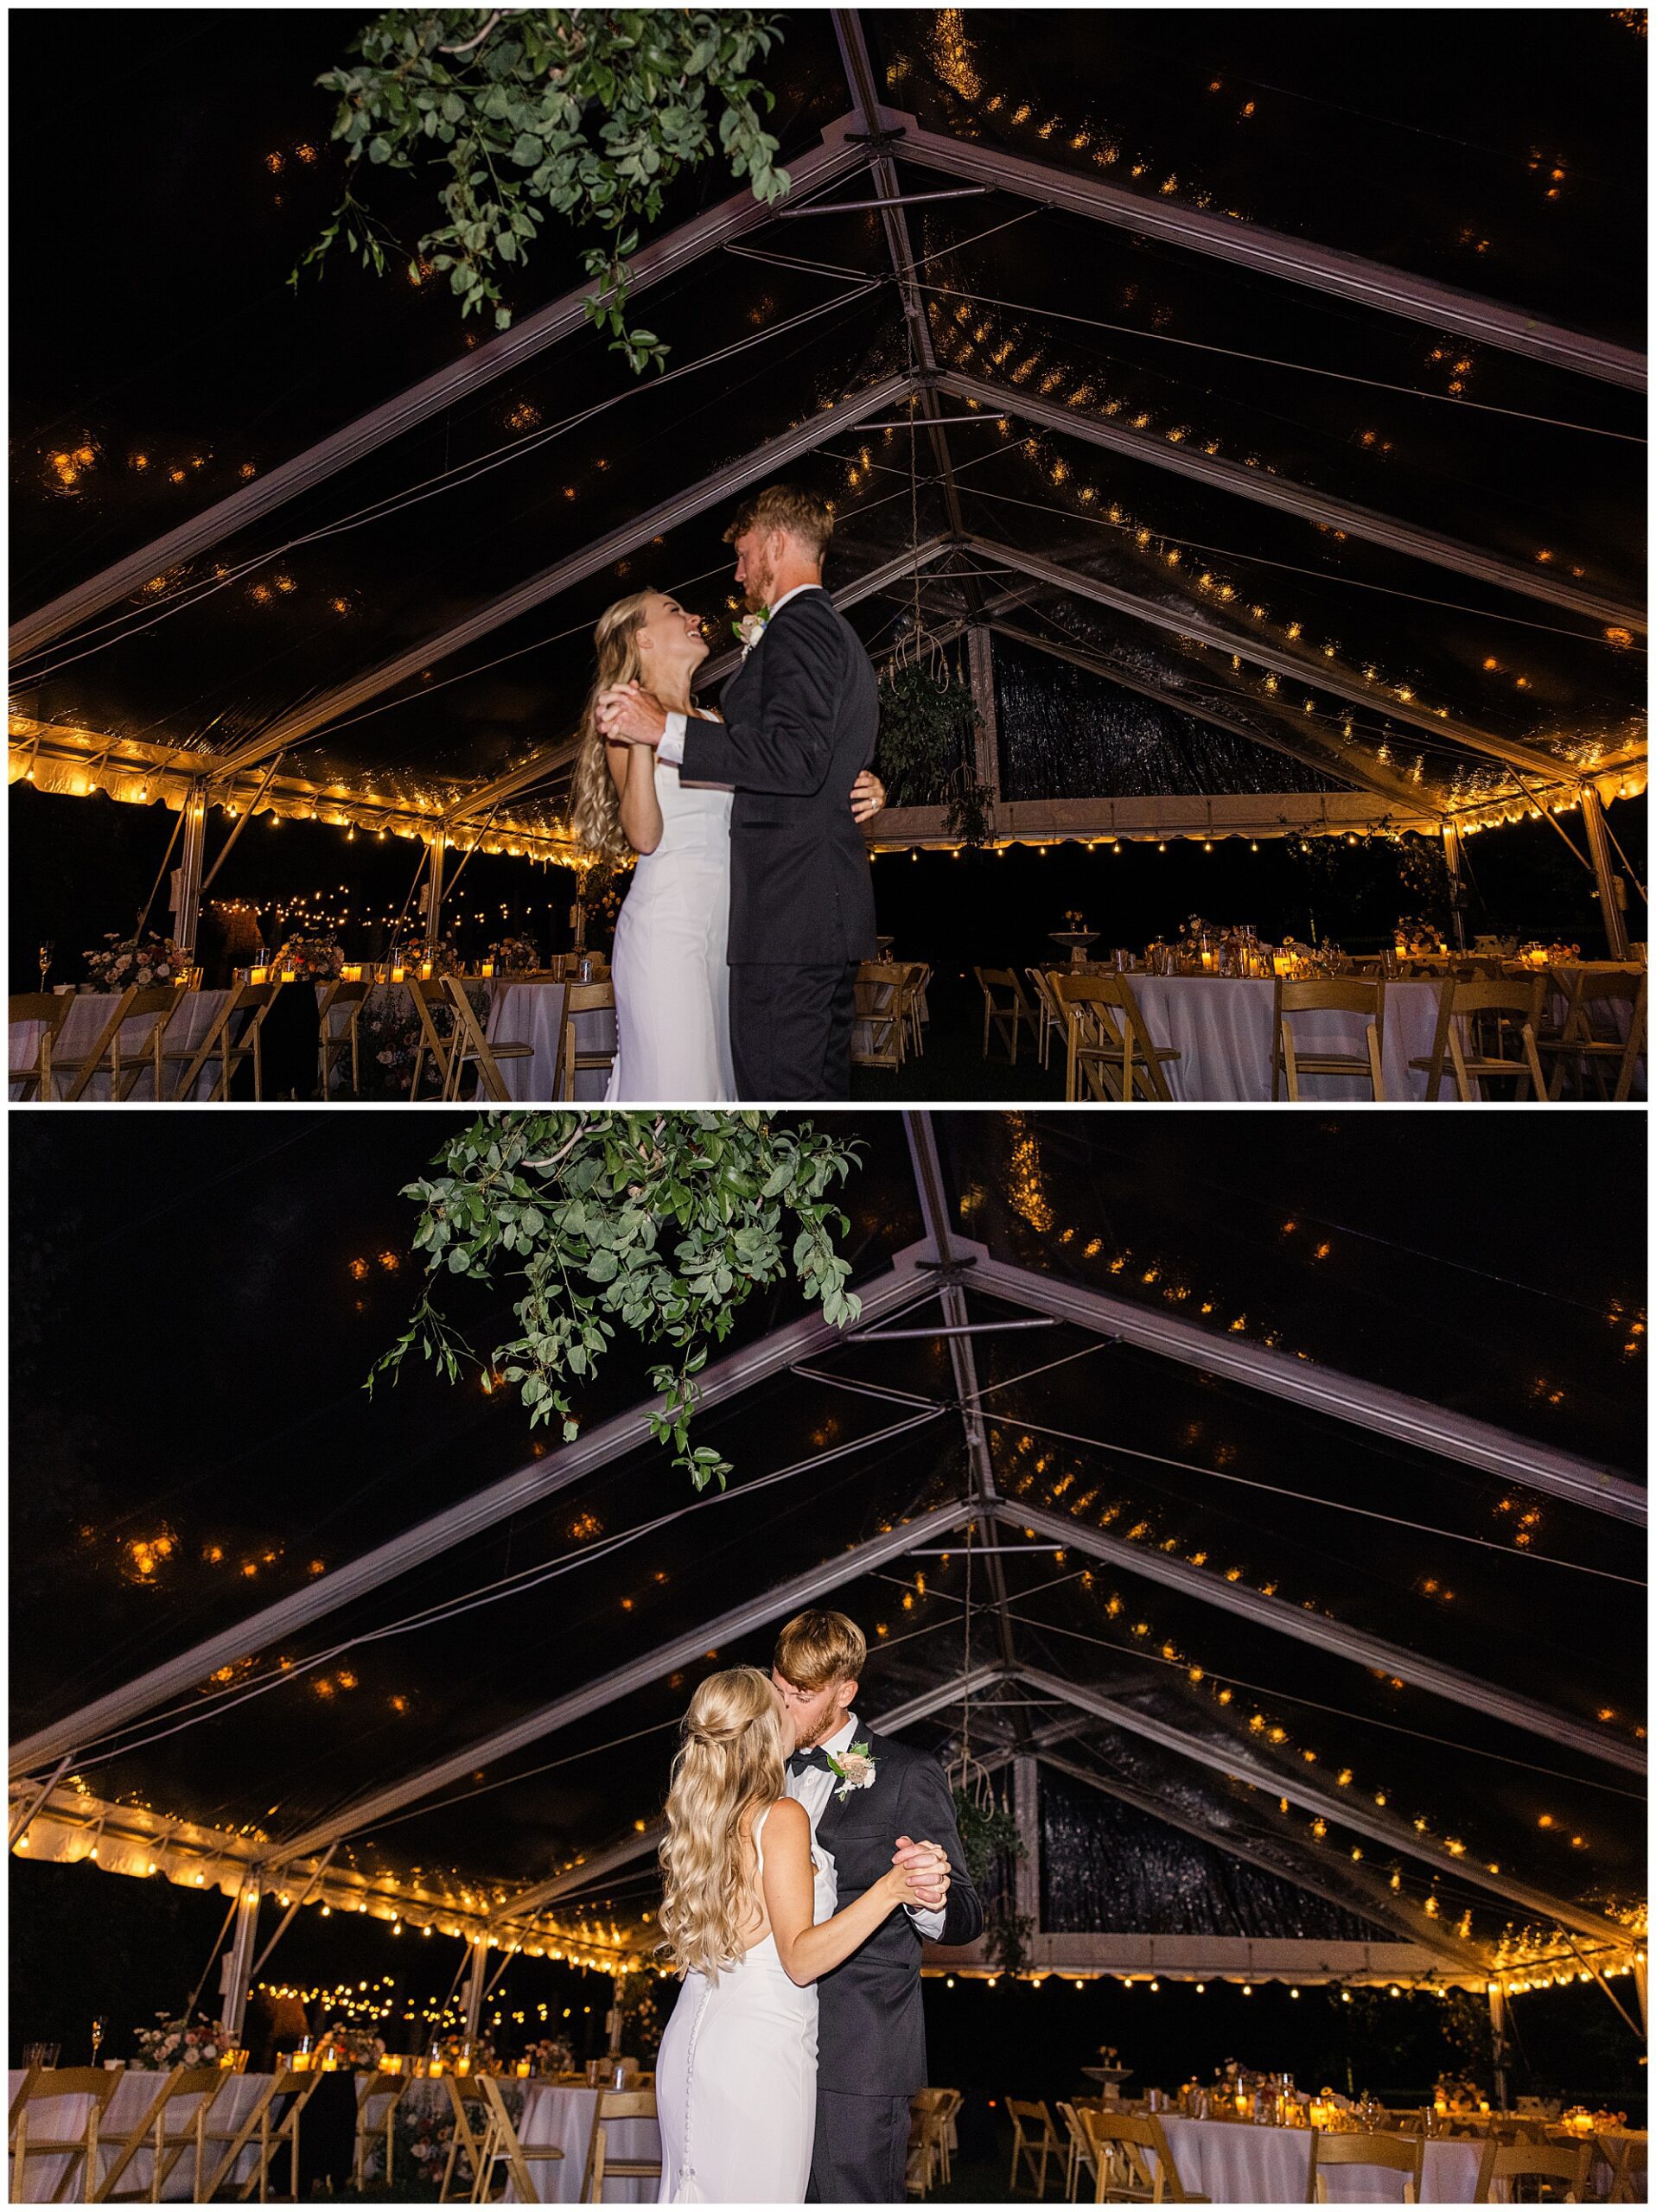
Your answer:
[[[1348,538],[1359,538],[1366,544],[1386,546],[1388,553],[1401,553],[1410,560],[1430,562],[1437,568],[1450,568],[1457,575],[1477,577],[1481,584],[1494,584],[1499,591],[1517,591],[1528,599],[1545,599],[1550,606],[1565,606],[1576,615],[1585,615],[1590,622],[1627,624],[1634,630],[1645,628],[1645,608],[1641,602],[1618,599],[1612,593],[1585,591],[1583,586],[1572,584],[1567,575],[1554,575],[1552,568],[1521,568],[1517,562],[1501,560],[1497,553],[1483,553],[1479,546],[1463,544],[1457,538],[1443,538],[1439,531],[1426,531],[1415,522],[1399,522],[1393,515],[1357,507],[1350,500],[1337,500],[1308,484],[1295,484],[1284,476],[1273,476],[1269,469],[1244,469],[1235,460],[1222,460],[1218,453],[1204,453],[1200,445],[1191,445],[1189,440],[1169,445],[1167,438],[1158,438],[1156,431],[1134,429],[1129,422],[1114,422],[1103,416],[1083,414],[1076,407],[1060,407],[1056,400],[1043,400],[1036,394],[1021,392],[1016,387],[1003,389],[985,376],[970,376],[965,369],[941,369],[936,387],[939,392],[948,392],[952,398],[976,400],[981,407],[994,407],[996,414],[1010,414],[1014,418],[1021,416],[1025,422],[1038,422],[1041,429],[1049,429],[1060,438],[1080,438],[1087,445],[1103,447],[1107,453],[1122,453],[1129,460],[1147,462],[1153,469],[1167,469],[1173,476],[1191,478],[1198,484],[1211,484],[1215,491],[1229,491],[1240,500],[1255,500],[1260,507],[1273,507],[1280,513],[1300,515],[1300,520],[1313,522],[1319,529],[1344,531]]]

